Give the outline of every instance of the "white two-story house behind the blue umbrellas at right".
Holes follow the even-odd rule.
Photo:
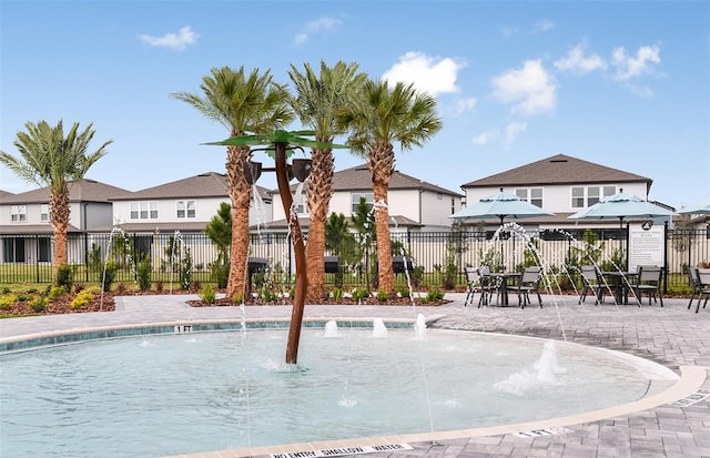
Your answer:
[[[475,203],[503,187],[504,191],[555,214],[516,221],[526,227],[616,228],[619,227],[618,221],[569,220],[568,216],[621,191],[646,200],[651,184],[652,180],[646,176],[557,154],[471,181],[462,185],[462,190],[466,194],[466,202]],[[466,224],[475,225],[478,222],[470,220]],[[486,221],[487,228],[498,224],[497,221]]]

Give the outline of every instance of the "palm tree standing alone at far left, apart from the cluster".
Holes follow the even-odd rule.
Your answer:
[[[91,126],[89,124],[79,132],[77,122],[64,136],[61,120],[53,128],[47,121],[37,124],[28,122],[24,124],[27,132],[18,132],[14,141],[22,157],[0,151],[0,163],[20,179],[49,190],[49,222],[54,233],[54,273],[60,265],[67,264],[70,186],[83,179],[89,167],[108,153],[106,146],[113,143],[113,140],[109,140],[93,153],[87,154],[94,135]]]

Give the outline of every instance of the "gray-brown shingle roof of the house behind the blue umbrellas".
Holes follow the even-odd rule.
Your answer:
[[[646,176],[557,154],[495,175],[464,184],[462,187],[489,187],[572,183],[629,183],[653,182]]]

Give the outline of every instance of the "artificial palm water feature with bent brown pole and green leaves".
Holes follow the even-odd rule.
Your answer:
[[[298,215],[293,208],[293,196],[291,195],[291,187],[288,186],[288,171],[291,166],[286,163],[287,152],[294,150],[295,147],[301,149],[304,146],[317,149],[344,147],[332,143],[317,142],[303,138],[303,135],[313,136],[314,134],[315,133],[313,131],[286,132],[277,130],[270,135],[237,135],[221,142],[207,143],[212,145],[247,147],[255,145],[268,145],[267,147],[262,150],[273,151],[275,162],[275,167],[273,169],[273,171],[276,173],[278,194],[281,195],[284,213],[286,214],[286,220],[288,222],[288,234],[291,236],[294,262],[296,264],[296,284],[294,288],[293,307],[291,312],[288,342],[286,344],[286,364],[296,364],[298,358],[301,323],[303,322],[303,309],[308,289],[305,243],[303,241],[303,234],[301,233],[301,225],[298,224]],[[303,181],[306,179],[306,176],[307,174],[305,176],[302,175],[298,179]],[[253,181],[255,181],[257,177],[252,176]]]

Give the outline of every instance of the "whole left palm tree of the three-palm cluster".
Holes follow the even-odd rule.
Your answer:
[[[202,79],[203,95],[176,92],[172,98],[181,100],[205,118],[219,122],[230,131],[230,136],[247,132],[273,132],[294,119],[288,105],[288,92],[273,81],[271,71],[260,74],[258,69],[246,74],[244,67],[237,71],[229,67],[213,68],[211,75]],[[248,145],[226,147],[226,181],[232,203],[232,246],[230,278],[226,297],[244,297],[246,291],[246,258],[248,255],[248,208],[252,186],[244,177],[243,165],[252,154]]]

